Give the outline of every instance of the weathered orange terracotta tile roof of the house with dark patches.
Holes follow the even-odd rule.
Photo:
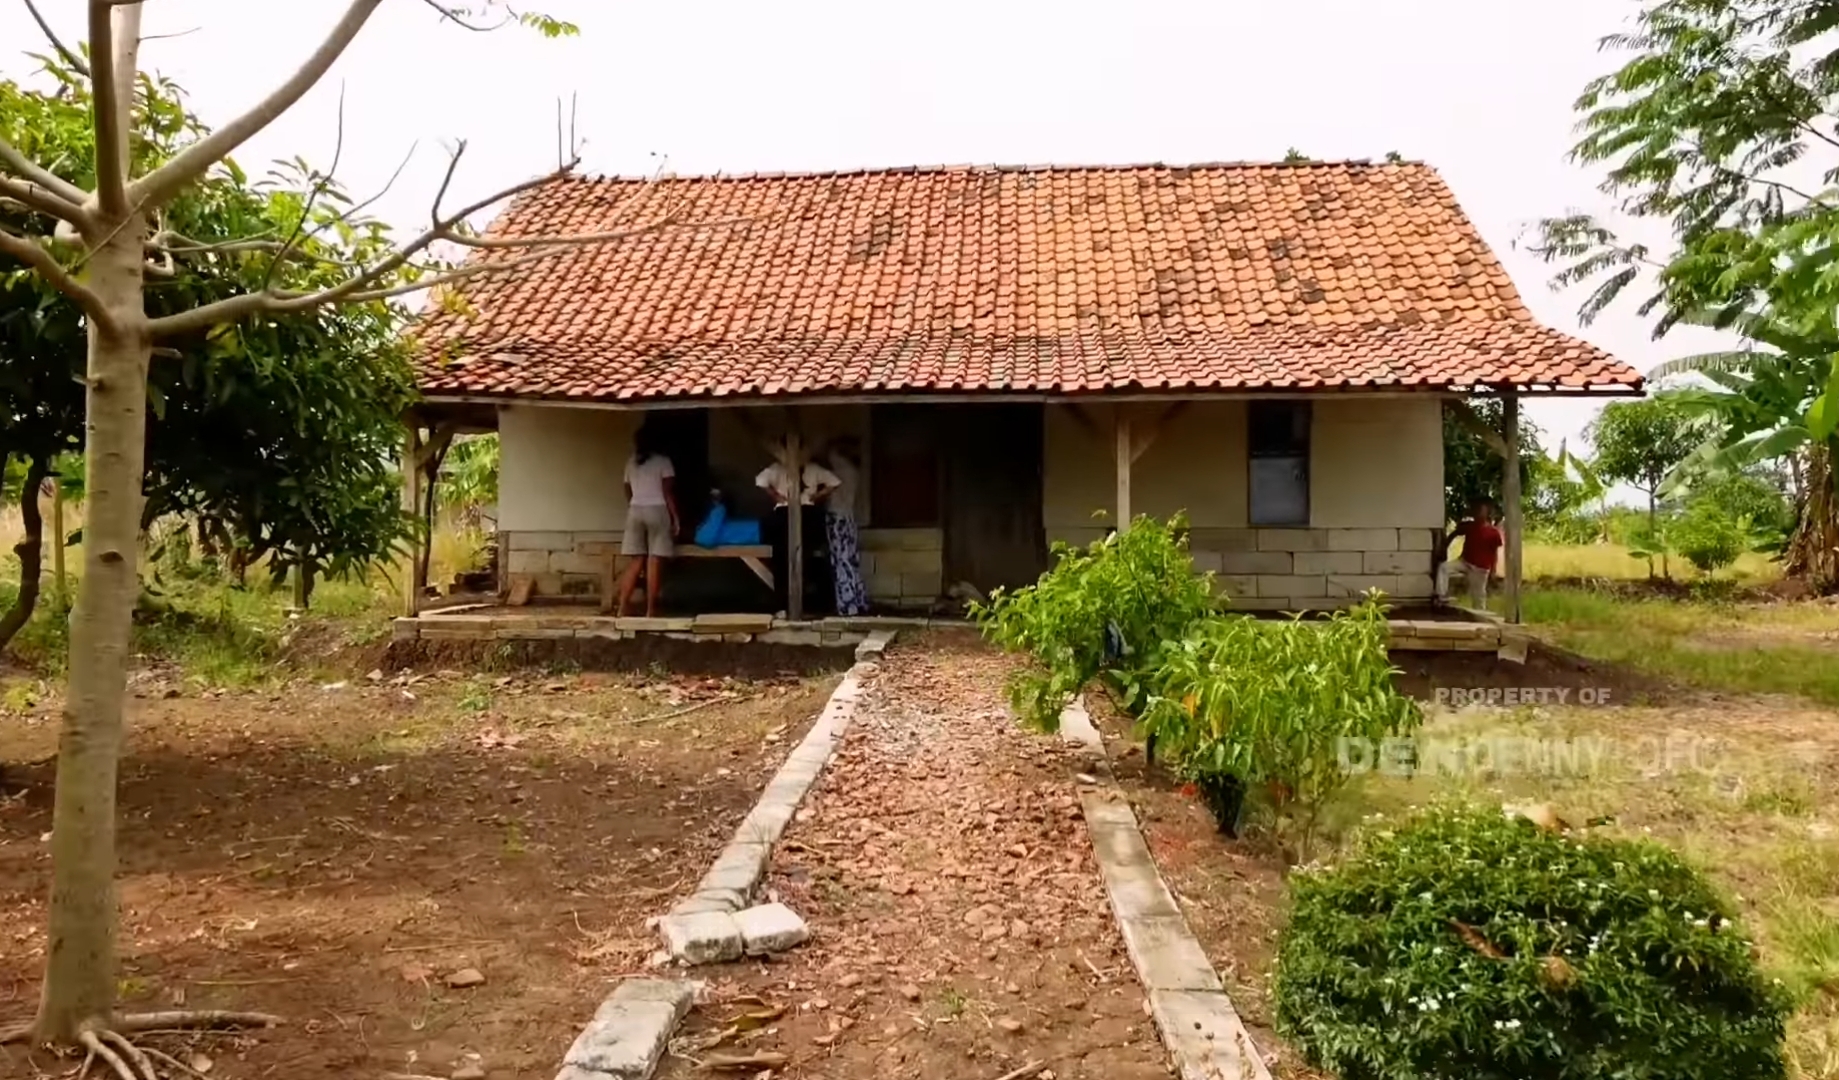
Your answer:
[[[686,224],[469,280],[417,329],[423,390],[1640,385],[1534,322],[1418,164],[570,178],[519,197],[489,236],[660,217]]]

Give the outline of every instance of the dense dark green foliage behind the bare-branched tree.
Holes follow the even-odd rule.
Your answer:
[[[57,94],[0,81],[0,134],[64,178],[90,184],[86,81],[50,68]],[[136,169],[204,134],[177,86],[143,77]],[[7,215],[13,219],[7,219]],[[0,208],[0,223],[50,232]],[[252,236],[289,237],[270,250],[210,250]],[[173,272],[149,280],[149,315],[169,315],[276,285],[316,291],[351,265],[375,263],[388,230],[303,162],[250,180],[224,162],[162,217]],[[405,276],[406,280],[406,276]],[[270,315],[162,342],[178,351],[149,372],[143,524],[193,515],[230,537],[243,563],[276,574],[360,572],[397,548],[412,519],[397,504],[392,458],[416,399],[401,340],[403,311],[351,304]],[[0,258],[0,438],[35,454],[81,447],[85,327],[81,311],[37,274]]]

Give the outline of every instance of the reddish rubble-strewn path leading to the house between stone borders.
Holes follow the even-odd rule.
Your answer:
[[[1078,760],[1002,703],[965,635],[897,646],[774,854],[813,940],[715,970],[660,1076],[1160,1080],[1164,1054],[1078,808]],[[783,1016],[774,1016],[783,1008]],[[750,1016],[748,1016],[750,1014]],[[715,1038],[728,1027],[750,1028]]]

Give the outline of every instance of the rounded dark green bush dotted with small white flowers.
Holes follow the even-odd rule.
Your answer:
[[[1434,810],[1291,878],[1278,1030],[1341,1080],[1762,1080],[1788,1003],[1655,843]]]

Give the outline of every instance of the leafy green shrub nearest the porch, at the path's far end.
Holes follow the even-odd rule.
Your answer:
[[[1039,662],[1017,672],[1008,692],[1015,712],[1046,732],[1059,730],[1061,708],[1087,683],[1151,668],[1162,642],[1212,611],[1212,576],[1194,572],[1182,515],[1138,517],[1085,548],[1056,543],[1054,567],[1039,581],[971,605],[986,638]],[[1107,627],[1116,627],[1122,649],[1107,648]]]

